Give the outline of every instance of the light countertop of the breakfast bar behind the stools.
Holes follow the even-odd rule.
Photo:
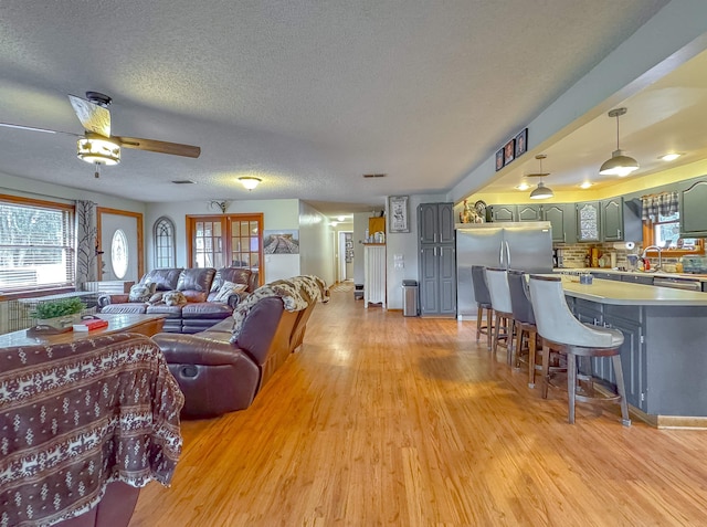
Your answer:
[[[707,306],[705,293],[652,285],[594,278],[592,284],[580,284],[562,276],[564,293],[576,298],[613,305],[639,306]]]

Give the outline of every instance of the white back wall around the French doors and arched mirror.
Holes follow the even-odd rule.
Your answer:
[[[263,229],[299,229],[299,200],[231,201],[228,214],[263,213]],[[187,262],[187,215],[221,214],[221,209],[208,201],[180,201],[175,203],[148,203],[145,217],[146,268],[154,266],[152,225],[166,215],[175,222],[177,240],[177,265],[189,267]],[[275,257],[276,256],[276,257]],[[283,257],[285,256],[285,257]],[[299,274],[299,259],[295,254],[265,256],[264,280],[266,282]]]

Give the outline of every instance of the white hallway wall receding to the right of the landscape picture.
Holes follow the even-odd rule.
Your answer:
[[[319,276],[334,284],[336,245],[327,218],[305,202],[299,202],[299,270],[300,274]]]

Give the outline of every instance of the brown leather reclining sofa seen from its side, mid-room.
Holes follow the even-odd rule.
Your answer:
[[[274,372],[302,345],[317,302],[328,301],[328,291],[320,278],[306,276],[278,282],[303,280],[310,285],[316,283],[319,293],[312,287],[308,292],[299,291],[304,303],[296,307],[288,305],[282,292],[273,293],[277,289],[277,283],[273,283],[256,289],[236,306],[233,318],[205,331],[162,333],[152,337],[184,393],[183,418],[210,418],[251,405]]]

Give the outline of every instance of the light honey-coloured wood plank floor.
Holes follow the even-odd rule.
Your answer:
[[[250,409],[182,423],[130,527],[706,525],[707,432],[569,425],[474,331],[335,291]]]

